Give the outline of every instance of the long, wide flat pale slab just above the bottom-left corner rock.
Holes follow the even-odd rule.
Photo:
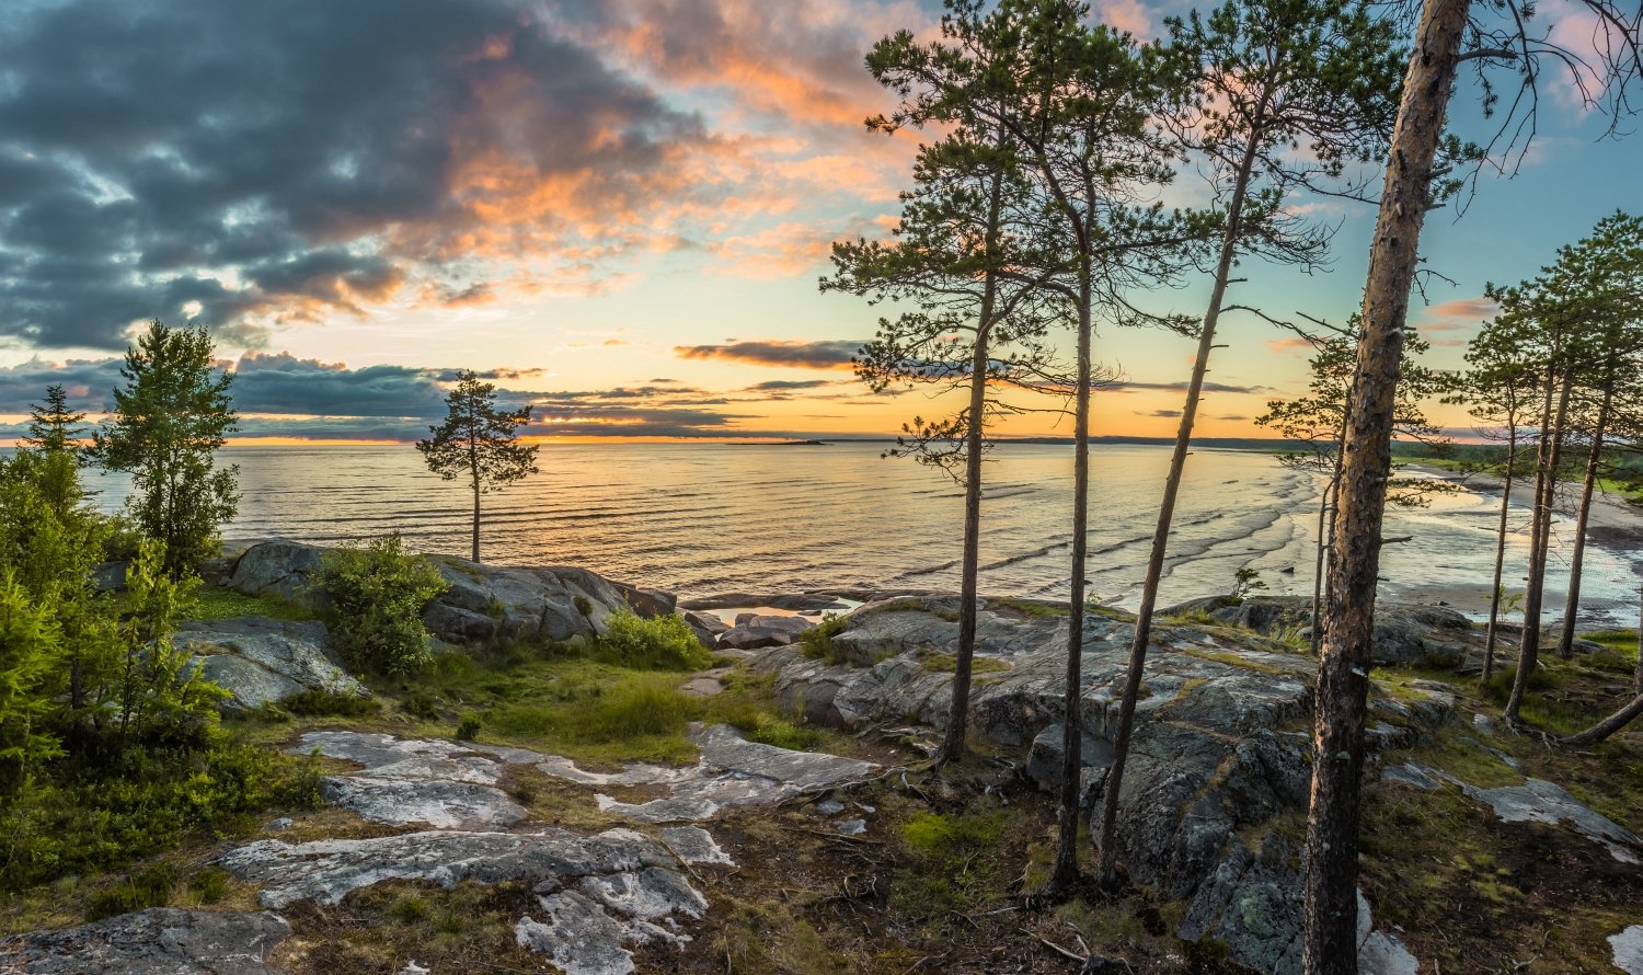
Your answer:
[[[384,880],[426,880],[452,888],[463,880],[503,883],[674,870],[679,862],[651,837],[626,829],[598,835],[545,827],[529,834],[432,830],[363,840],[286,843],[258,840],[223,853],[223,870],[263,886],[258,901],[335,904]]]

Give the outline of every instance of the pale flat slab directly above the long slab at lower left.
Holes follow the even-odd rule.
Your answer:
[[[498,788],[509,765],[545,758],[526,748],[396,738],[366,732],[309,732],[292,753],[319,751],[358,761],[358,774],[320,783],[324,797],[386,825],[427,824],[435,829],[488,829],[526,817]]]

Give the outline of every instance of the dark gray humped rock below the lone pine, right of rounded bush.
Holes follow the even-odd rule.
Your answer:
[[[587,569],[429,561],[449,589],[427,605],[422,623],[452,643],[593,638],[605,633],[611,613],[629,608],[616,585]]]

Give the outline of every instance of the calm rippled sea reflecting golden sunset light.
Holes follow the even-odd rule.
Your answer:
[[[541,474],[486,495],[488,562],[585,566],[613,579],[713,592],[843,585],[956,589],[963,498],[941,474],[886,460],[877,444],[544,446]],[[468,552],[470,495],[411,447],[238,447],[240,518],[227,536],[315,543],[399,531],[417,549]],[[1130,603],[1168,451],[1093,452],[1091,592]],[[1007,446],[986,469],[983,592],[1060,597],[1068,587],[1071,449]],[[94,477],[104,506],[118,477]],[[1311,592],[1319,482],[1255,452],[1196,451],[1175,520],[1163,600],[1226,592],[1250,566],[1270,592]],[[1388,513],[1382,594],[1487,605],[1498,497],[1464,493]],[[1526,513],[1516,521],[1526,524]],[[1571,533],[1564,526],[1562,543]],[[1513,539],[1521,562],[1526,539]],[[1636,620],[1643,556],[1589,546],[1592,625]],[[1508,589],[1521,571],[1508,571]],[[1562,548],[1551,587],[1561,594]],[[1561,595],[1548,600],[1561,607]]]

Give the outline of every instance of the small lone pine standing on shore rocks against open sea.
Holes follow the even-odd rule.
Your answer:
[[[417,441],[427,469],[445,480],[467,477],[473,488],[473,561],[480,561],[480,495],[536,474],[536,446],[519,442],[531,423],[531,408],[498,409],[496,386],[481,383],[473,370],[457,377],[445,396],[449,414],[434,434]]]

